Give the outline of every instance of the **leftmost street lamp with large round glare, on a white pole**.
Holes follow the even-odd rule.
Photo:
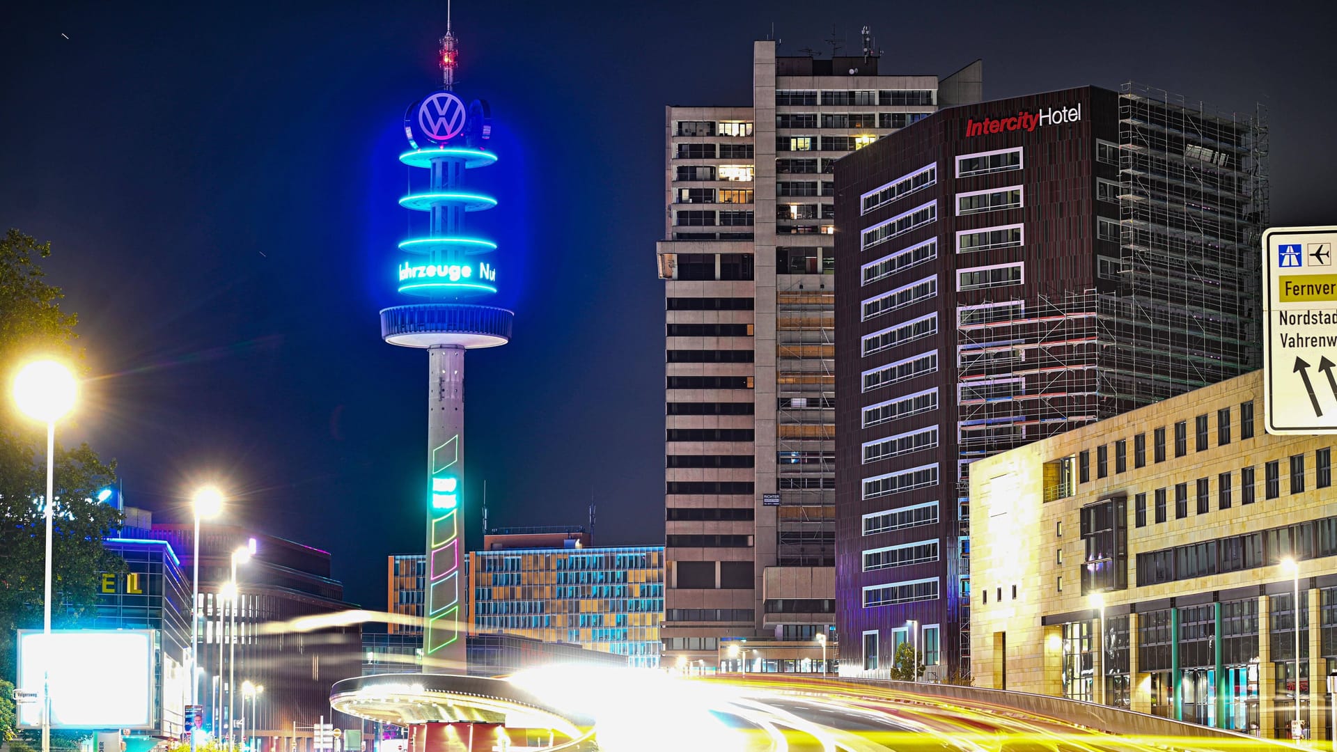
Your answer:
[[[79,383],[70,369],[53,360],[24,365],[13,380],[13,400],[19,409],[47,424],[47,563],[41,599],[41,634],[51,649],[51,529],[53,525],[56,475],[56,420],[75,405]],[[45,665],[45,664],[44,664]],[[51,672],[41,678],[41,752],[51,752]]]

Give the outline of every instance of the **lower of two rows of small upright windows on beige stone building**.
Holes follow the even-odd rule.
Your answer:
[[[1322,448],[1314,452],[1314,488],[1330,488],[1333,484],[1332,448]],[[1288,475],[1292,494],[1305,492],[1305,455],[1290,456],[1290,472]],[[1169,488],[1157,488],[1152,494],[1155,521],[1166,522],[1169,516]],[[1263,498],[1275,499],[1281,496],[1281,460],[1270,460],[1263,464]],[[1194,499],[1197,514],[1211,511],[1211,482],[1199,478],[1194,484]],[[1251,504],[1257,500],[1257,474],[1253,467],[1239,470],[1239,503]],[[1234,503],[1233,476],[1230,472],[1217,475],[1217,508],[1227,510]],[[1174,487],[1174,516],[1183,519],[1189,516],[1189,484],[1177,483]],[[1147,494],[1134,496],[1134,526],[1147,525]]]

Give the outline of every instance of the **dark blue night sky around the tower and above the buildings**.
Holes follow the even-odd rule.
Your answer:
[[[334,555],[385,603],[422,546],[427,355],[381,343],[410,213],[405,107],[435,88],[445,3],[27,3],[0,24],[0,226],[53,242],[95,381],[63,436],[120,462],[130,504],[233,519]],[[862,5],[853,12],[846,8]],[[1286,12],[1286,8],[1293,12]],[[1317,7],[1317,4],[1316,4]],[[499,302],[468,357],[469,535],[584,523],[663,541],[664,104],[747,104],[751,40],[882,72],[984,59],[985,98],[1132,79],[1271,120],[1274,225],[1337,219],[1330,40],[1286,3],[481,3],[455,5],[456,90],[500,162]],[[66,39],[62,35],[67,35]]]

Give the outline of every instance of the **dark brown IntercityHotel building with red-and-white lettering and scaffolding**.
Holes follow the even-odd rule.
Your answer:
[[[969,670],[971,463],[1259,367],[1265,145],[1258,114],[1127,84],[941,110],[840,161],[842,674],[904,641]]]

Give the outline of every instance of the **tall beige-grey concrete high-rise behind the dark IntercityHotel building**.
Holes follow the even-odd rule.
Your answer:
[[[941,80],[878,63],[757,41],[750,103],[664,112],[667,665],[714,670],[733,637],[749,670],[820,670],[753,648],[836,641],[832,171],[980,99],[977,62]]]

